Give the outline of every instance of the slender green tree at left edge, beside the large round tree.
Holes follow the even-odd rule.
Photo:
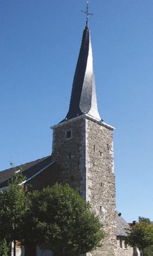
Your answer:
[[[23,238],[23,220],[29,207],[29,199],[25,196],[23,185],[20,185],[24,180],[21,172],[15,173],[0,199],[0,240],[14,241],[14,256],[16,240]]]

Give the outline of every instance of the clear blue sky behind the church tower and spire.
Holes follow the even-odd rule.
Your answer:
[[[85,0],[0,1],[0,169],[50,155],[69,108]],[[117,209],[150,217],[153,1],[90,0],[98,110],[114,131]]]

